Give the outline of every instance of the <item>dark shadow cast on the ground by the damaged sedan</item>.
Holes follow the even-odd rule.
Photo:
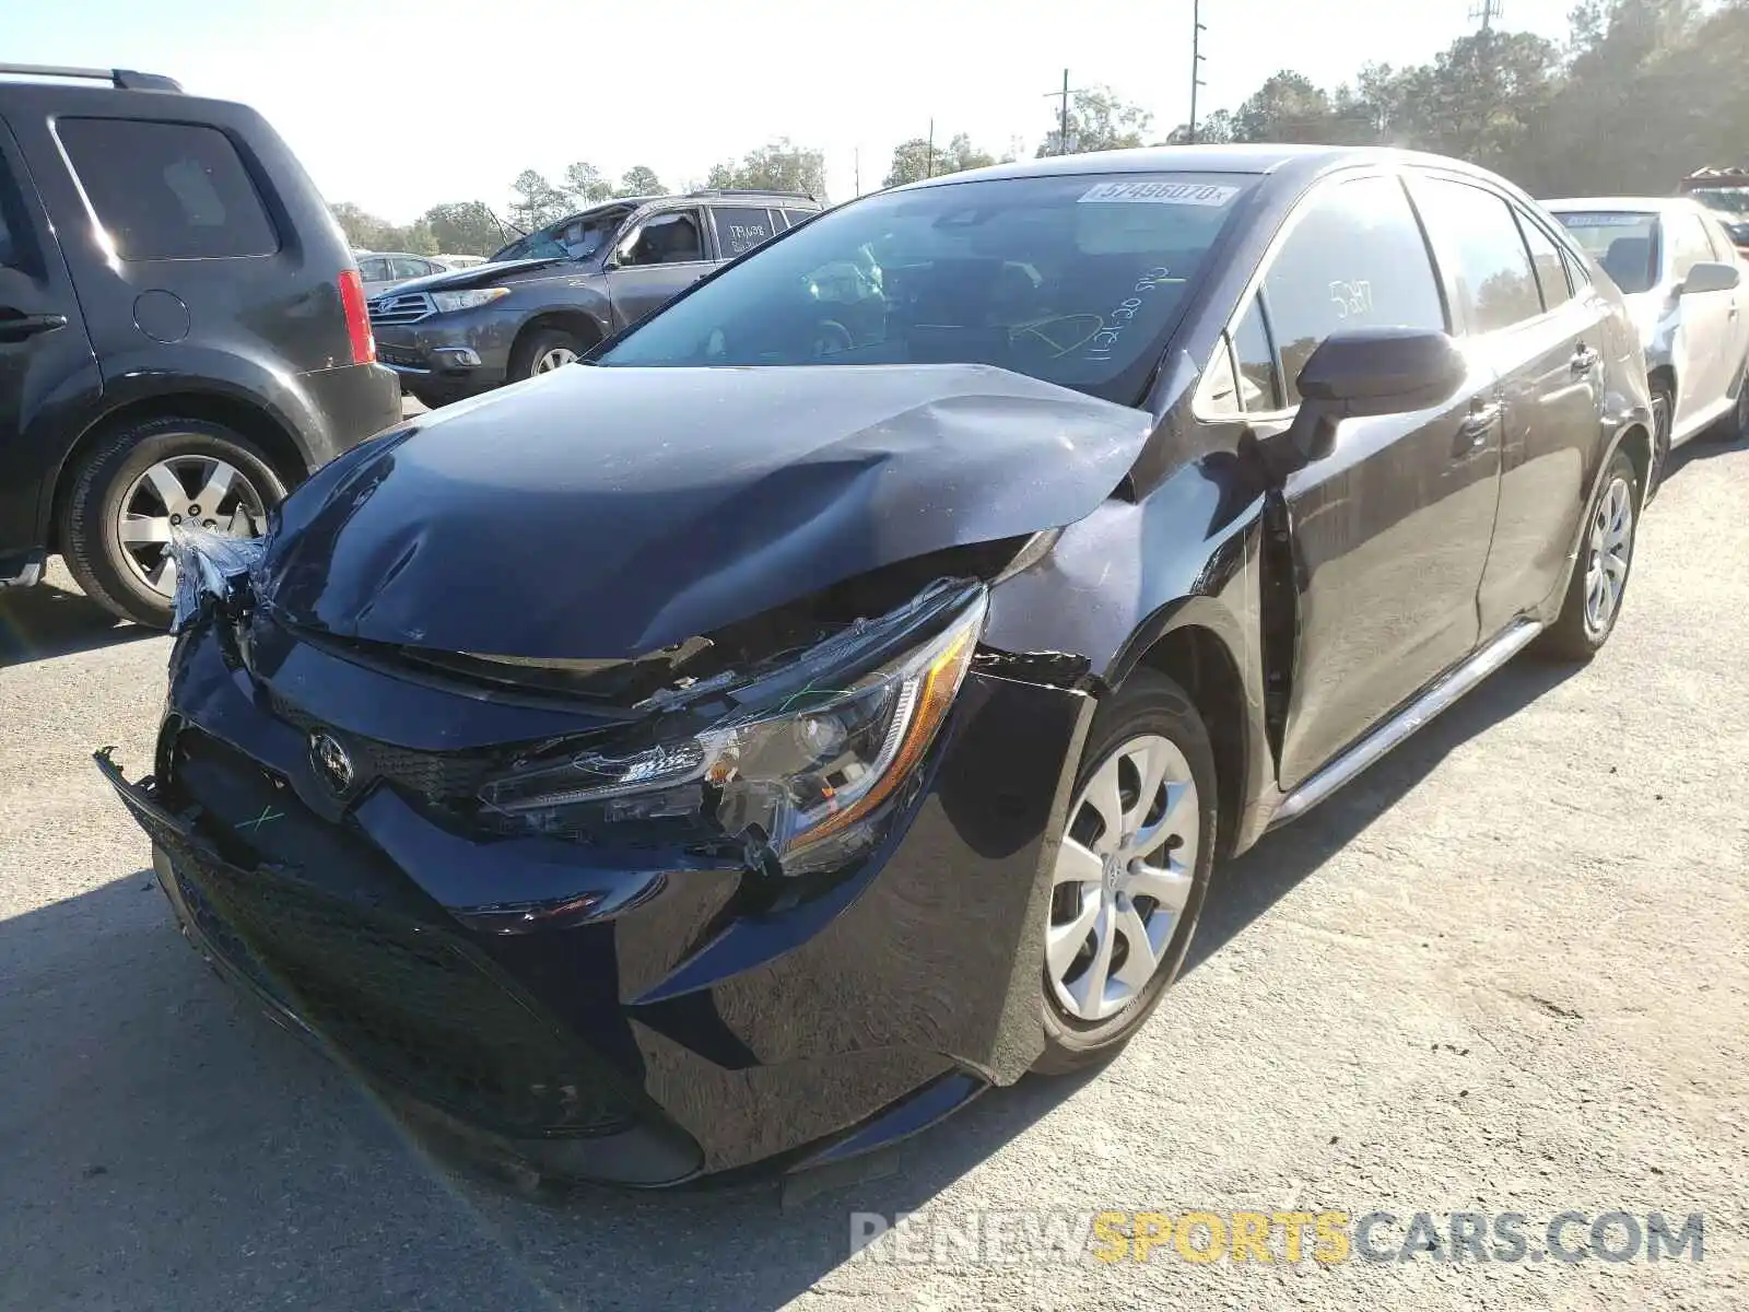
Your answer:
[[[1291,834],[1221,868],[1191,969],[1450,750],[1569,673],[1511,665]],[[12,1086],[0,1100],[3,1302],[131,1289],[138,1305],[191,1312],[775,1309],[850,1258],[852,1212],[923,1207],[1098,1078],[993,1090],[848,1177],[787,1191],[526,1197],[429,1153],[346,1071],[213,980],[145,871],[0,922],[0,1071]],[[1200,1132],[1189,1114],[1161,1128]]]

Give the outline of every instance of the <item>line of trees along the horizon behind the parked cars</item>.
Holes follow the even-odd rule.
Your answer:
[[[1749,157],[1749,0],[1579,0],[1567,40],[1481,30],[1422,65],[1369,63],[1334,89],[1282,70],[1237,110],[1179,124],[1161,142],[1153,117],[1111,87],[1076,91],[1035,154],[1181,142],[1399,145],[1467,159],[1537,196],[1669,194],[1690,171]],[[1063,133],[1067,126],[1067,136]],[[1002,161],[1018,157],[1013,142]],[[881,178],[895,187],[999,163],[965,133],[894,147]],[[700,182],[684,182],[691,191]],[[826,156],[778,138],[715,164],[708,187],[799,191],[826,201]],[[647,166],[617,182],[570,164],[558,182],[523,170],[502,215],[483,201],[436,205],[397,227],[355,205],[334,213],[360,248],[491,254],[514,236],[614,196],[661,192]]]

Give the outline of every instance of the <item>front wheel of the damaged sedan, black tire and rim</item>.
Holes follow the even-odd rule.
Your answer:
[[[1146,787],[1142,770],[1151,768],[1154,759],[1163,766],[1167,787],[1156,789],[1144,806],[1139,796]],[[1100,806],[1088,798],[1093,782],[1105,778],[1116,780],[1116,806],[1139,827],[1133,843],[1119,845],[1118,854],[1100,859],[1098,848],[1109,847],[1105,833],[1111,826],[1104,824]],[[1195,785],[1195,794],[1184,792],[1186,784]],[[1034,1071],[1067,1074],[1095,1065],[1123,1048],[1147,1020],[1184,966],[1209,894],[1216,815],[1209,729],[1184,689],[1153,670],[1137,670],[1098,708],[1076,771],[1048,924],[1039,927],[1046,936],[1039,981],[1044,1053]],[[1191,845],[1188,859],[1170,855]],[[1135,861],[1125,862],[1123,855],[1146,861],[1144,873],[1137,875]],[[1076,873],[1086,873],[1090,880],[1077,880]],[[1156,899],[1139,892],[1144,887],[1170,892]],[[1181,899],[1175,915],[1170,911],[1174,899]],[[1163,915],[1167,920],[1161,924]],[[1151,939],[1153,969],[1146,978],[1140,969],[1130,967],[1133,946],[1123,931],[1125,920],[1137,936]],[[1083,924],[1090,929],[1076,945],[1074,936]],[[1111,943],[1105,953],[1107,981],[1097,988],[1095,971],[1105,943]],[[1135,969],[1137,978],[1125,981],[1125,969]]]

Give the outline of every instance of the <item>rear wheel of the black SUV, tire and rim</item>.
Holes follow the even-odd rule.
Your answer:
[[[231,471],[226,493],[219,506],[201,506],[199,492],[215,486],[220,467]],[[182,486],[180,506],[163,490],[166,472]],[[61,502],[61,556],[93,602],[136,625],[168,628],[173,574],[161,572],[163,542],[145,535],[166,535],[161,521],[171,520],[259,534],[283,497],[273,465],[233,429],[191,418],[133,423],[100,439],[73,472]],[[142,532],[133,544],[122,541],[124,513]]]

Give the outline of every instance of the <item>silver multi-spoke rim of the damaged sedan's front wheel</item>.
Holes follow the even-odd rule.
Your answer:
[[[1202,808],[1189,761],[1160,735],[1123,742],[1069,808],[1044,971],[1058,1006],[1095,1023],[1137,999],[1195,885]]]

